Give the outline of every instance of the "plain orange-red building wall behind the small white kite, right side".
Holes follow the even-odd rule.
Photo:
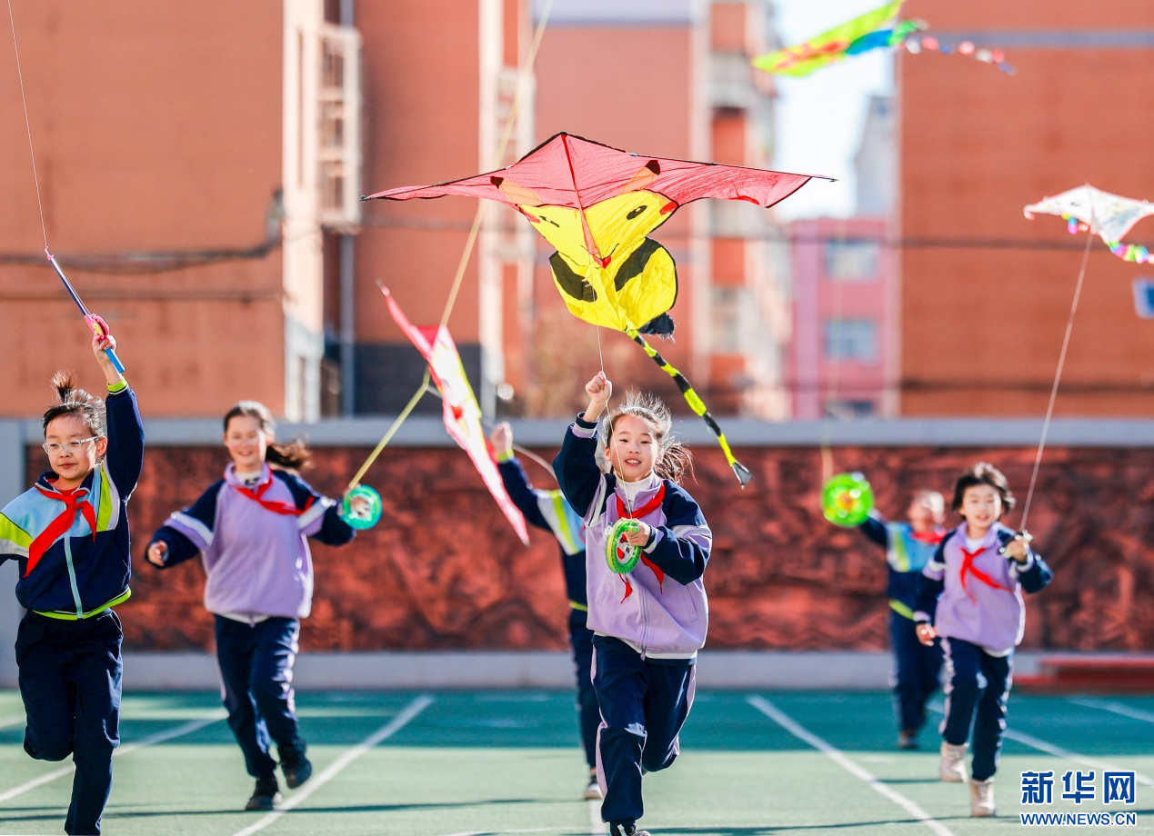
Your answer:
[[[1022,206],[1074,186],[1154,198],[1154,6],[1144,0],[911,0],[943,44],[1005,51],[898,59],[902,415],[1046,412],[1082,238]],[[1138,83],[1139,88],[1134,84]],[[1132,239],[1154,239],[1154,221]],[[1154,329],[1131,283],[1154,271],[1091,251],[1057,415],[1154,411]]]

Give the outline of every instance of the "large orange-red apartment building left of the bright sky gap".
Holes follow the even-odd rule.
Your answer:
[[[562,129],[767,165],[767,82],[748,65],[765,46],[762,5],[559,0],[523,71],[545,9],[14,3],[48,241],[107,316],[151,415],[218,415],[243,397],[307,422],[409,399],[422,361],[376,283],[413,322],[437,322],[477,204],[361,194],[492,170]],[[21,114],[10,67],[0,103]],[[20,416],[39,411],[52,369],[83,366],[87,333],[39,255],[21,119],[0,151],[0,348],[17,370],[0,414]],[[694,205],[662,229],[682,268],[679,339],[662,349],[719,412],[779,414],[780,351],[759,336],[778,303],[758,251],[770,213],[750,209]],[[490,414],[499,387],[512,413],[568,412],[556,382],[568,392],[592,368],[598,334],[567,321],[534,268],[544,255],[488,206],[448,324]],[[601,337],[620,377],[668,385],[623,337]]]

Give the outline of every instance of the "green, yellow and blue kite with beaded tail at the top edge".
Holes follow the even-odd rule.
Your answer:
[[[1014,68],[1005,62],[1005,57],[998,50],[979,48],[972,40],[951,43],[930,35],[913,37],[914,32],[926,29],[927,24],[922,21],[898,23],[904,2],[905,0],[894,0],[802,44],[758,55],[752,65],[773,75],[801,77],[848,55],[904,46],[913,54],[922,50],[946,55],[957,52],[959,55],[972,57],[983,63],[997,65],[1004,73],[1014,73]]]

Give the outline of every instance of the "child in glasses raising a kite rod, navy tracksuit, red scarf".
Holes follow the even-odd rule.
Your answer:
[[[127,503],[144,461],[136,396],[112,366],[111,334],[92,353],[108,387],[102,400],[73,376],[52,378],[44,413],[48,466],[0,512],[0,562],[20,564],[16,634],[24,751],[76,763],[65,833],[99,834],[120,744],[120,618],[132,593]]]

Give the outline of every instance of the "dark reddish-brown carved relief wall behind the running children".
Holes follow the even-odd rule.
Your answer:
[[[550,459],[555,451],[537,452]],[[697,481],[687,487],[715,537],[705,574],[710,647],[884,648],[884,557],[857,532],[822,518],[819,451],[739,450],[755,473],[744,491],[714,450],[697,445],[696,452]],[[320,449],[304,475],[319,490],[339,494],[345,474],[367,453]],[[32,462],[42,459],[29,455]],[[949,500],[957,474],[980,459],[1001,467],[1019,504],[1025,500],[1033,449],[833,451],[837,469],[864,472],[878,507],[894,515],[919,488],[941,490]],[[148,449],[129,504],[136,577],[133,598],[121,608],[126,647],[211,647],[203,570],[190,562],[159,572],[142,552],[164,518],[192,503],[225,464],[220,447]],[[540,485],[552,487],[541,468],[532,462],[529,468]],[[1047,450],[1029,528],[1056,579],[1027,597],[1025,648],[1154,649],[1151,474],[1154,450]],[[390,447],[366,481],[381,491],[384,517],[349,547],[313,545],[316,595],[302,631],[305,649],[567,647],[556,545],[531,529],[532,545],[523,547],[463,452]],[[1018,521],[1017,512],[1007,518],[1010,525]]]

